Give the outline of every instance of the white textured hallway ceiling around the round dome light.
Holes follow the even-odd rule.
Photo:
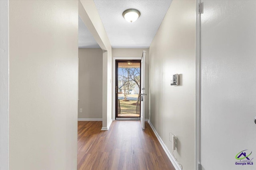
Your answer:
[[[148,48],[172,0],[94,0],[113,48]],[[140,18],[127,22],[122,13],[134,8]]]

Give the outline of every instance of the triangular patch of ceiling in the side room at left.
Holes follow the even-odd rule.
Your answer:
[[[78,48],[100,48],[80,16],[78,16]]]

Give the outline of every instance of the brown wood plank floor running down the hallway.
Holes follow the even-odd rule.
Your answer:
[[[78,170],[175,170],[150,125],[113,121],[78,121]]]

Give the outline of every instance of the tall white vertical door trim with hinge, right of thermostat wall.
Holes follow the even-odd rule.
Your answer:
[[[195,134],[195,169],[201,163],[201,14],[199,4],[201,0],[196,0],[196,134]],[[202,8],[202,7],[201,7]]]

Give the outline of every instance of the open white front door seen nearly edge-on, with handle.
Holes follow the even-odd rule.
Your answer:
[[[142,129],[145,129],[145,56],[146,51],[143,51],[140,68],[140,121]]]

